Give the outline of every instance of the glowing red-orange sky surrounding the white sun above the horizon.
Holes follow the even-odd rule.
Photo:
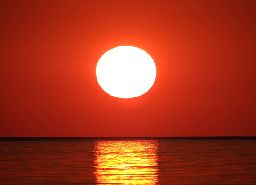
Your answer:
[[[256,1],[0,1],[0,136],[256,136]],[[100,57],[145,50],[141,97]]]

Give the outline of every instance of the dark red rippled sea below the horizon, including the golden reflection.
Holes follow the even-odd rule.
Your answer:
[[[0,140],[1,185],[256,185],[256,139]]]

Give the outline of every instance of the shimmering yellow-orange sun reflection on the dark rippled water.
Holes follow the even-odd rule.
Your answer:
[[[95,145],[96,183],[158,183],[157,141],[97,141]]]

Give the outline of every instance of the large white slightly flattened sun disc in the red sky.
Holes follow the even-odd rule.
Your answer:
[[[119,46],[107,51],[96,67],[102,89],[114,97],[132,98],[146,93],[154,84],[154,60],[144,50]]]

